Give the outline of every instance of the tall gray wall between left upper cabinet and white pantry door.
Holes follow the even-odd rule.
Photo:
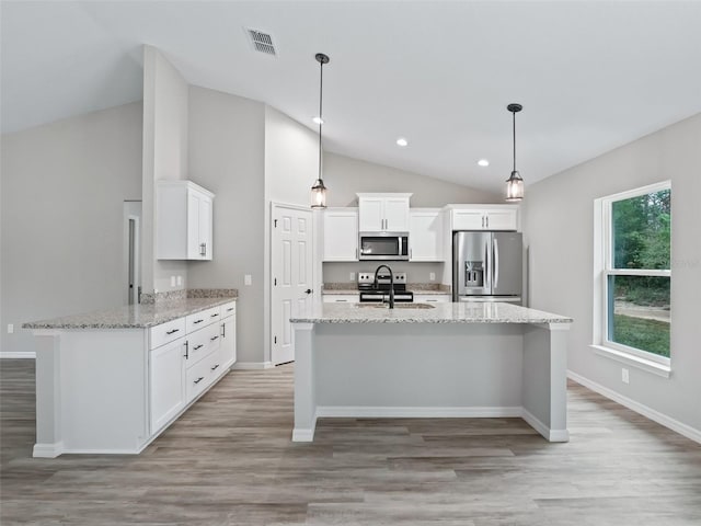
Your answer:
[[[239,289],[240,362],[263,362],[265,106],[189,87],[189,179],[216,194],[214,260],[188,266],[188,286]],[[253,284],[244,286],[251,274]]]

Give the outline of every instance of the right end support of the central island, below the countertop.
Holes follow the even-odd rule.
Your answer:
[[[568,323],[528,325],[524,335],[524,419],[550,442],[567,442]]]

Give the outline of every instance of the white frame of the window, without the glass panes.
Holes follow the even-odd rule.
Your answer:
[[[653,194],[663,190],[671,192],[671,181],[663,181],[646,186],[607,195],[595,199],[595,287],[594,287],[594,344],[599,354],[609,355],[613,359],[641,366],[653,373],[668,376],[671,365],[670,357],[660,356],[650,351],[623,345],[609,340],[609,325],[613,311],[609,309],[608,283],[610,276],[653,276],[671,279],[671,270],[652,268],[614,268],[613,266],[613,203],[641,195]],[[670,247],[671,250],[671,247]],[[671,254],[670,254],[671,255]],[[671,304],[671,297],[670,297]],[[670,320],[671,327],[671,320]]]

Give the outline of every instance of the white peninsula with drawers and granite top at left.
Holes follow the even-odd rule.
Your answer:
[[[138,454],[235,362],[235,289],[33,321],[34,457]]]

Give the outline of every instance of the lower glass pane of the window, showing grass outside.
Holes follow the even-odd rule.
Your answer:
[[[609,276],[609,341],[669,357],[669,282]]]

